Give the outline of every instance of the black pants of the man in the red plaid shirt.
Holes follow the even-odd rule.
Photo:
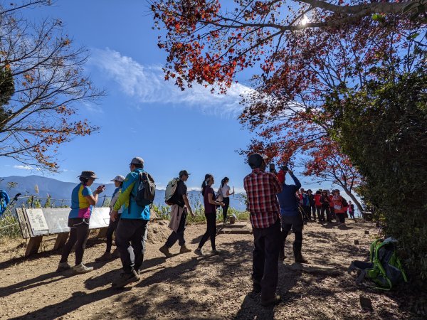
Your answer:
[[[261,300],[272,299],[278,286],[280,220],[268,228],[253,228],[253,282],[261,284]]]

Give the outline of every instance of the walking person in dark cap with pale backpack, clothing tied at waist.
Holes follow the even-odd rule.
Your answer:
[[[166,257],[172,257],[172,253],[169,252],[169,249],[176,241],[178,241],[178,245],[181,247],[181,249],[179,249],[180,254],[191,252],[191,249],[186,247],[184,239],[187,212],[189,211],[193,217],[196,216],[191,209],[186,192],[187,187],[185,182],[189,178],[189,175],[190,174],[186,170],[179,171],[179,181],[176,186],[176,191],[168,201],[172,204],[171,221],[169,223],[169,228],[172,229],[172,233],[169,235],[169,238],[167,238],[166,243],[159,248],[160,252],[162,252]]]

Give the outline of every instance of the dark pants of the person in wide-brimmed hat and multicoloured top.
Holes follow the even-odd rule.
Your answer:
[[[75,265],[80,265],[85,253],[86,241],[89,236],[89,218],[70,218],[68,219],[70,227],[70,238],[65,243],[60,262],[66,262],[70,255],[73,245],[75,245]]]

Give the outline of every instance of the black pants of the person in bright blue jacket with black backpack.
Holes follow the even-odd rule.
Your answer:
[[[122,267],[126,273],[139,270],[144,261],[148,220],[120,219],[116,230],[116,244]]]

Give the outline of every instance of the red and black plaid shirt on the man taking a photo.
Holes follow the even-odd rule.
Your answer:
[[[243,186],[248,195],[248,210],[253,228],[268,228],[273,225],[280,217],[276,194],[282,191],[275,174],[253,169],[243,179]]]

